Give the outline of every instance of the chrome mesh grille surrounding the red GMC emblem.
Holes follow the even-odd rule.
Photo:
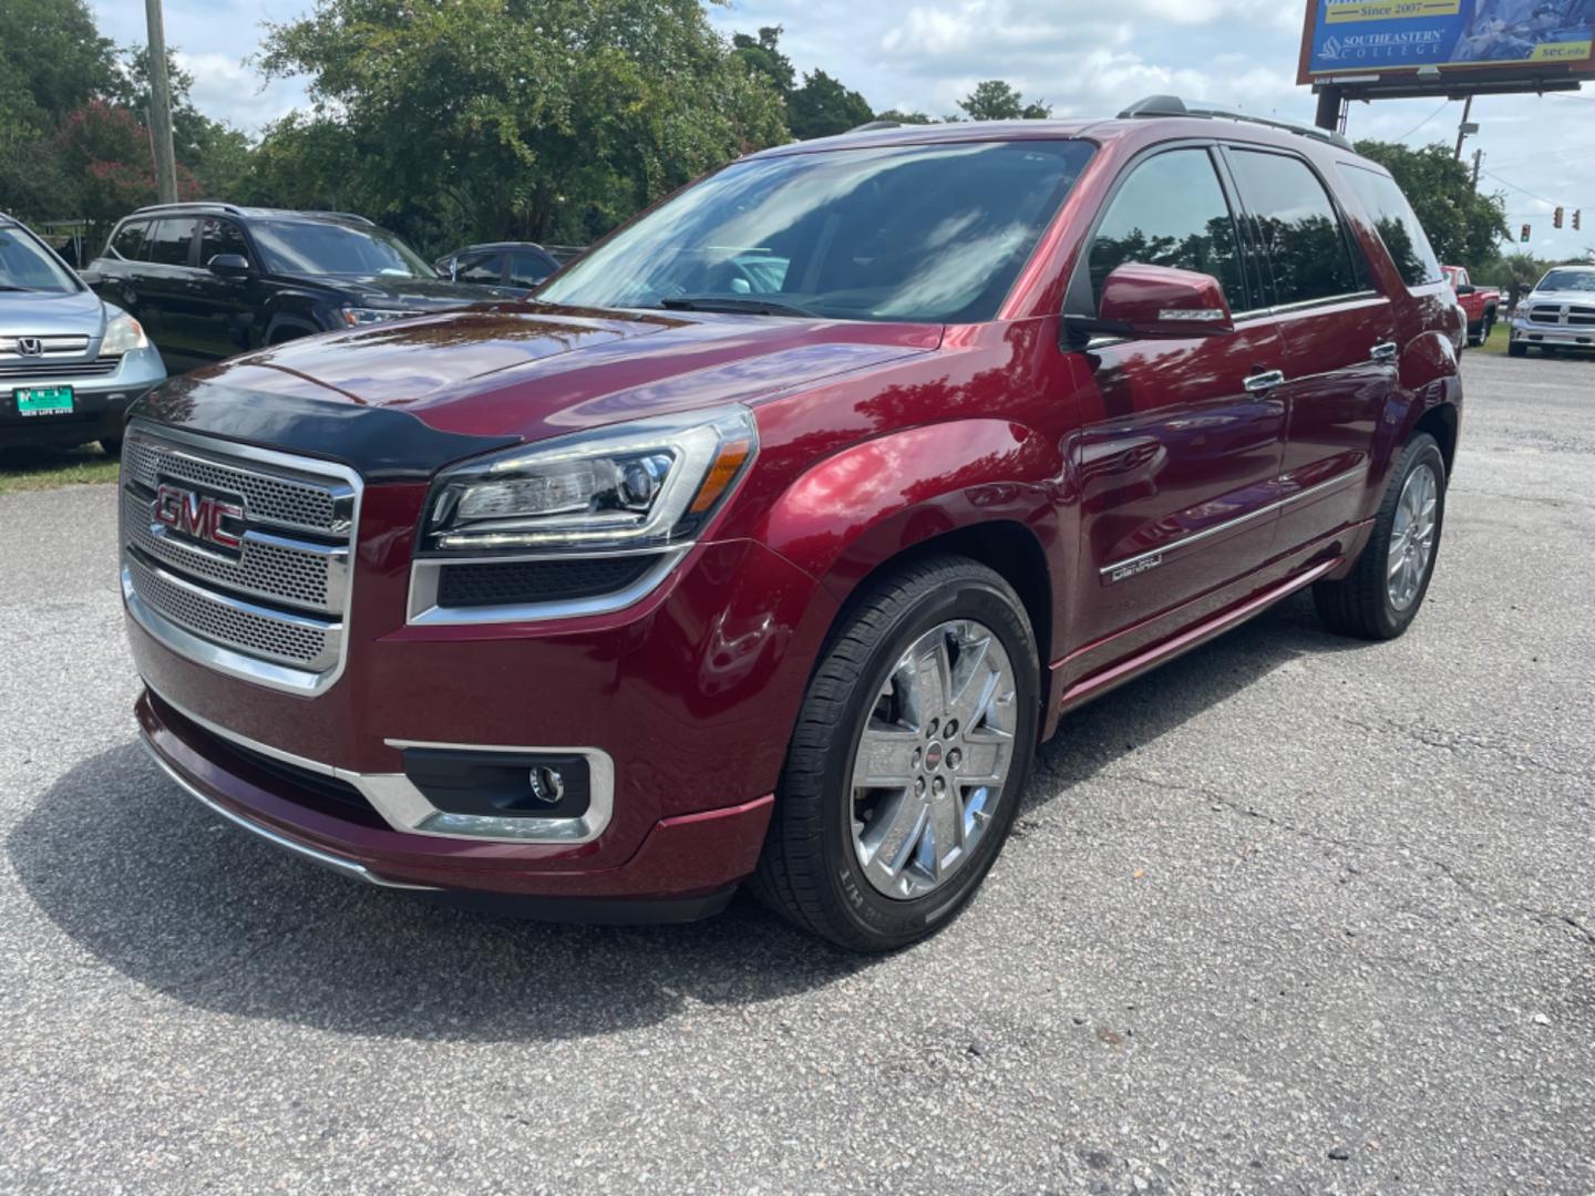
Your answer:
[[[226,517],[238,545],[156,520],[161,486],[242,507],[241,528],[236,509]],[[341,466],[136,421],[121,466],[128,609],[199,663],[321,692],[343,667],[359,496],[359,477]]]

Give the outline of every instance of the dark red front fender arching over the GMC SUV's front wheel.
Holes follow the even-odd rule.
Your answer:
[[[770,506],[758,537],[837,600],[908,549],[984,523],[1029,528],[1051,572],[1062,558],[1065,488],[1059,447],[1034,429],[954,419],[863,440],[817,462]]]

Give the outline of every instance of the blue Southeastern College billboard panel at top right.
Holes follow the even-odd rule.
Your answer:
[[[1502,69],[1589,77],[1595,0],[1308,0],[1300,83]]]

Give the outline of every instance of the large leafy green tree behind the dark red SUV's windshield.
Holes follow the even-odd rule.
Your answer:
[[[585,241],[786,137],[778,92],[699,0],[319,0],[270,27],[260,62],[309,75],[316,112],[268,134],[250,185],[337,144],[300,195],[354,196],[426,247]]]

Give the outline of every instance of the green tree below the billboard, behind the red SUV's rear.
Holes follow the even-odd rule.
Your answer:
[[[1482,273],[1507,236],[1506,196],[1474,190],[1466,166],[1450,145],[1413,150],[1392,142],[1362,140],[1357,153],[1380,163],[1405,191],[1440,262]]]

